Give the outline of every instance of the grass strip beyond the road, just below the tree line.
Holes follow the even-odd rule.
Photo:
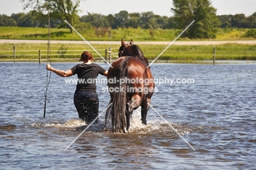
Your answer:
[[[253,29],[251,29],[253,30]],[[52,40],[82,40],[77,33],[70,33],[67,28],[51,28]],[[143,30],[141,28],[119,28],[117,30],[77,30],[86,40],[120,40],[136,39],[136,41],[171,41],[182,30]],[[248,37],[249,29],[219,28],[216,39],[211,40],[252,40]],[[48,28],[36,27],[0,27],[0,39],[48,39]],[[178,40],[190,40],[179,38]],[[195,40],[195,39],[193,39]],[[203,39],[196,39],[203,40]],[[209,39],[207,39],[209,40]]]

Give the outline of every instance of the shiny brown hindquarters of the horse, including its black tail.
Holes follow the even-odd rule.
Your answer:
[[[108,114],[110,114],[112,130],[120,131],[123,129],[125,132],[125,127],[128,130],[130,126],[132,110],[137,109],[152,96],[153,77],[144,62],[136,57],[119,57],[112,63],[112,67],[108,70],[107,79],[111,97],[109,103],[113,104],[107,110],[106,122],[108,121]]]

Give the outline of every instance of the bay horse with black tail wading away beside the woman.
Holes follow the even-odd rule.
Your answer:
[[[147,113],[151,97],[154,93],[154,78],[150,71],[149,63],[139,47],[125,44],[121,39],[118,58],[108,69],[109,104],[105,116],[106,127],[110,118],[113,132],[129,132],[130,118],[133,110],[141,106],[141,121],[147,125]]]

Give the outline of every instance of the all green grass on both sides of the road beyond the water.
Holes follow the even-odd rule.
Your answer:
[[[79,28],[78,28],[79,29]],[[51,28],[51,40],[82,40],[77,33],[70,33],[67,28]],[[181,30],[154,30],[154,36],[150,36],[149,30],[141,28],[119,28],[110,30],[105,34],[95,35],[95,30],[78,30],[86,40],[117,40],[121,38],[139,41],[168,41],[175,39]],[[101,30],[97,30],[101,32]],[[254,35],[253,29],[219,29],[217,38],[212,40],[251,40],[247,35]],[[248,34],[249,32],[249,34]],[[48,28],[27,27],[0,27],[0,39],[48,39]],[[179,38],[178,40],[191,40]],[[195,40],[195,39],[193,39]],[[202,39],[196,39],[202,40]],[[207,39],[209,40],[209,39]],[[167,45],[139,45],[144,55],[153,60]],[[256,60],[256,45],[223,44],[216,46],[216,60]],[[107,44],[94,44],[94,48],[105,56]],[[120,45],[112,45],[112,51],[118,52]],[[45,44],[15,44],[15,61],[38,61],[39,50],[42,60],[47,58],[48,45]],[[95,59],[100,56],[87,44],[51,44],[52,61],[77,61],[84,50],[92,52]],[[63,51],[68,50],[68,51]],[[77,50],[77,51],[75,51]],[[117,57],[117,54],[112,55]],[[197,62],[212,60],[213,45],[172,45],[159,57],[164,61]],[[101,58],[100,58],[101,59]],[[13,61],[13,44],[0,44],[0,61]]]

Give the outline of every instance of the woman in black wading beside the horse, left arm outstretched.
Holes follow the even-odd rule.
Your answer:
[[[48,71],[52,71],[61,77],[70,77],[77,74],[80,81],[78,80],[77,89],[74,93],[74,105],[77,108],[79,118],[85,120],[87,124],[90,124],[98,116],[99,101],[96,83],[92,80],[95,80],[98,74],[105,76],[108,74],[106,69],[92,63],[92,59],[91,53],[84,51],[79,60],[84,63],[78,64],[67,71],[55,69],[49,64],[46,65]]]

